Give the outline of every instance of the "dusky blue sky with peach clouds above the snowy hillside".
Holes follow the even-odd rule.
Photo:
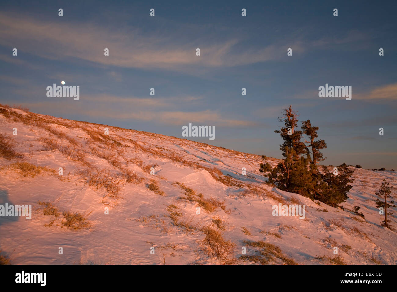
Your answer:
[[[0,103],[181,138],[189,123],[214,126],[214,140],[186,138],[276,158],[277,118],[292,105],[299,125],[319,127],[322,163],[396,170],[396,9],[395,1],[2,1]],[[61,81],[79,86],[78,101],[47,97]],[[351,100],[319,97],[326,83],[351,86]]]

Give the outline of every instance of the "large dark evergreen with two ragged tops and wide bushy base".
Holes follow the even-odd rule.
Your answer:
[[[280,149],[284,159],[275,167],[268,162],[261,163],[259,171],[264,173],[269,183],[275,184],[280,190],[299,193],[312,200],[318,199],[333,207],[345,202],[347,193],[352,188],[349,183],[353,182],[350,177],[354,171],[342,165],[339,167],[339,174],[335,176],[324,166],[323,173],[320,173],[316,163],[325,159],[320,149],[327,145],[324,140],[315,141],[318,127],[313,127],[310,120],[307,120],[303,122],[303,131],[298,131],[297,111],[289,106],[284,109],[283,114],[278,120],[284,122],[284,127],[275,132],[283,139]],[[310,142],[306,141],[307,146],[301,141],[303,133],[310,138]],[[308,147],[312,149],[313,160]]]

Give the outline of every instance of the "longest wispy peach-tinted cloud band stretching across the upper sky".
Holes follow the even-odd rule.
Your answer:
[[[15,21],[15,17],[0,13],[0,44],[17,46],[21,51],[29,49],[29,54],[42,58],[79,58],[126,68],[185,70],[185,65],[239,66],[279,59],[287,49],[283,41],[265,47],[237,49],[239,39],[212,42],[198,39],[196,43],[202,44],[198,57],[196,46],[181,43],[177,31],[167,37],[156,32],[148,36],[133,28],[100,27],[89,22],[46,22],[27,15],[17,18]],[[25,46],[27,42],[29,48]],[[295,53],[304,51],[302,41],[294,41],[289,46],[294,47]],[[109,48],[109,56],[104,56],[104,48]],[[280,54],[281,51],[285,54]]]

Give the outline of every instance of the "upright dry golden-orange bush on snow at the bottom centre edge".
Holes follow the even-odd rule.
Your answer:
[[[211,226],[201,229],[206,235],[201,242],[201,249],[212,258],[216,258],[224,265],[232,265],[237,263],[234,256],[234,248],[236,246],[231,240],[225,240],[223,234]]]

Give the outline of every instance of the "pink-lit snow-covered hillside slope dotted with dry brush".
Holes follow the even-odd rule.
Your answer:
[[[380,226],[374,194],[382,178],[397,185],[394,171],[354,168],[343,211],[266,184],[258,155],[3,107],[0,133],[23,155],[0,158],[0,205],[33,208],[30,220],[0,217],[13,264],[397,263],[396,232]],[[304,205],[305,219],[273,216],[279,203]],[[44,215],[51,207],[58,217]],[[228,255],[208,253],[209,225],[224,240],[212,247]]]

